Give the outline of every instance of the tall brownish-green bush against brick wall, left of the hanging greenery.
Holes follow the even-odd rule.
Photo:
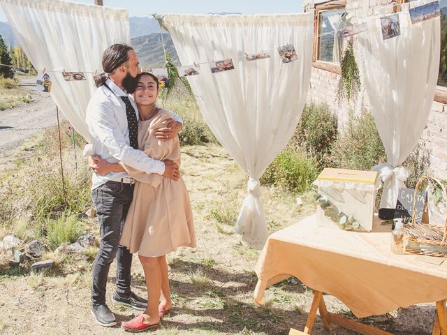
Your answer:
[[[337,115],[330,111],[328,104],[306,105],[295,131],[294,142],[313,156],[320,168],[324,168],[328,165],[336,139]]]

